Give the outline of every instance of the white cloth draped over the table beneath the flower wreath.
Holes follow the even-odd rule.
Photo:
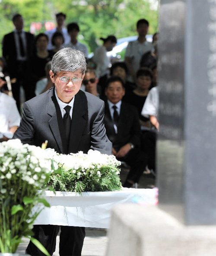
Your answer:
[[[35,225],[109,228],[111,208],[114,205],[156,204],[157,190],[123,188],[121,191],[83,192],[82,196],[75,192],[57,191],[54,194],[52,191],[46,191],[45,199],[51,207],[45,207],[41,211],[35,220]]]

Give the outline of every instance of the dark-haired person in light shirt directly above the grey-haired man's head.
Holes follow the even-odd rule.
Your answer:
[[[85,57],[87,58],[88,54],[89,54],[87,46],[84,43],[80,43],[77,40],[77,36],[79,34],[79,26],[78,26],[78,24],[75,23],[75,22],[69,23],[67,25],[67,32],[70,35],[70,42],[65,44],[64,47],[65,48],[66,47],[70,47],[70,48],[72,48],[74,50],[79,50],[82,53],[84,53]]]

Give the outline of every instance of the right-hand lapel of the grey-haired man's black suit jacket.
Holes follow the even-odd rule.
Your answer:
[[[70,141],[68,146],[69,153],[76,153],[80,138],[83,135],[83,130],[88,121],[88,105],[87,98],[84,92],[79,91],[75,95],[73,103],[73,113],[70,127]]]

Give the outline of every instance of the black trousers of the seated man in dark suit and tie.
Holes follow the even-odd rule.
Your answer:
[[[130,171],[127,174],[126,181],[131,180],[134,183],[139,182],[140,177],[148,164],[147,155],[141,151],[140,148],[133,148],[124,158],[118,158],[118,160],[125,161],[126,164],[130,165]]]

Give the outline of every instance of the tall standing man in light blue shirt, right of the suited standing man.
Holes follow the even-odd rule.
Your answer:
[[[56,16],[57,26],[54,29],[47,30],[45,32],[45,34],[47,34],[48,37],[49,37],[49,43],[48,43],[48,46],[47,46],[48,50],[52,50],[53,49],[52,36],[53,36],[53,34],[55,32],[61,32],[63,34],[63,36],[64,36],[64,43],[65,44],[70,42],[70,36],[67,33],[67,29],[64,27],[64,22],[66,20],[66,14],[64,14],[64,13],[57,13],[55,16]]]

